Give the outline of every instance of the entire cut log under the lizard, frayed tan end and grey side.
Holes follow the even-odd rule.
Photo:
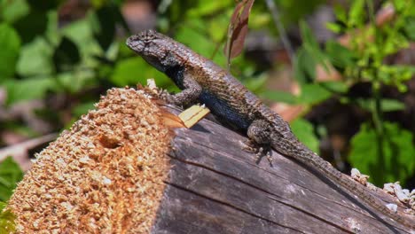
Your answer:
[[[256,163],[241,151],[246,137],[215,121],[173,134],[165,109],[178,110],[155,103],[142,91],[109,90],[41,152],[10,200],[17,230],[411,233],[277,152],[272,166]]]

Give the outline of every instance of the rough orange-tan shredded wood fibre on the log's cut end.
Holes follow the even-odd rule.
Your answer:
[[[171,135],[143,91],[108,90],[37,155],[9,207],[20,233],[148,233]]]

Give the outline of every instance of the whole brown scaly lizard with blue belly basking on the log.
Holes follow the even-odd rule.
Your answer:
[[[257,152],[263,153],[262,146],[268,146],[286,157],[298,160],[340,185],[343,190],[355,194],[381,214],[415,230],[414,223],[389,210],[380,199],[365,191],[364,185],[349,179],[309,150],[294,136],[289,124],[278,113],[270,110],[221,66],[153,29],[129,36],[126,44],[176,83],[181,92],[164,92],[162,95],[169,104],[189,105],[199,100],[233,129],[244,132],[248,136],[248,144],[254,145]]]

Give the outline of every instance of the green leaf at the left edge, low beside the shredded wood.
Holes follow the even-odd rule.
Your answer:
[[[0,162],[0,201],[6,201],[12,196],[16,183],[22,178],[23,172],[12,157]]]

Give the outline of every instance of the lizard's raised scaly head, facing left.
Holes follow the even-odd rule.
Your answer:
[[[137,35],[131,35],[127,39],[127,46],[141,57],[145,58],[152,66],[164,72],[169,66],[168,55],[171,53],[171,41],[166,35],[155,30],[145,30]]]

